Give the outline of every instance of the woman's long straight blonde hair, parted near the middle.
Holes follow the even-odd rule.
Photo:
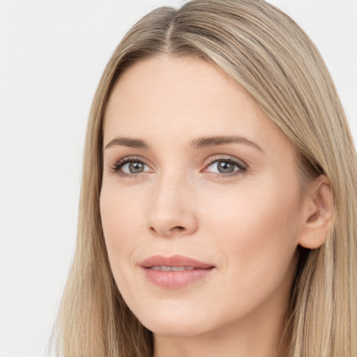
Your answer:
[[[357,356],[356,152],[316,47],[263,0],[193,0],[139,20],[116,47],[93,99],[86,133],[77,249],[54,328],[66,357],[151,357],[152,334],[116,288],[102,233],[102,124],[116,80],[150,56],[199,56],[243,86],[307,167],[326,174],[335,220],[326,243],[301,250],[284,339],[287,356]],[[283,337],[282,337],[283,338]]]

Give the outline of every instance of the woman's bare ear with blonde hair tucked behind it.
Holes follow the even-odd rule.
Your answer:
[[[331,185],[325,175],[320,175],[307,188],[303,207],[303,228],[298,243],[309,249],[323,245],[333,224],[333,213]]]

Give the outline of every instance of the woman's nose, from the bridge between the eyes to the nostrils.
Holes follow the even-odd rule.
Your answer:
[[[162,175],[155,183],[149,229],[158,236],[188,236],[197,230],[194,188],[183,176],[172,176]]]

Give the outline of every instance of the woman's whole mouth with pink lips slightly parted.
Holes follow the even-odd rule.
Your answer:
[[[215,266],[182,255],[162,257],[155,255],[142,261],[146,278],[163,289],[180,289],[202,280]]]

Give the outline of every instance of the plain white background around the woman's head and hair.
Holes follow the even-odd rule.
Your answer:
[[[271,0],[310,35],[357,137],[355,0]],[[75,248],[86,119],[149,10],[181,0],[0,0],[0,356],[43,357]]]

